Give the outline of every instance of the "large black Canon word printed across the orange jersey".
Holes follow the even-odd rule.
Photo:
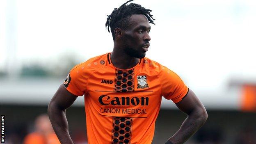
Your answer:
[[[149,97],[114,97],[111,99],[110,98],[110,96],[102,95],[99,97],[98,101],[101,103],[101,105],[149,105]]]

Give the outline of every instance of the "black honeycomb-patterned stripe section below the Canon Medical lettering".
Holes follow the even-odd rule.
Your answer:
[[[133,118],[113,117],[111,144],[131,144]]]

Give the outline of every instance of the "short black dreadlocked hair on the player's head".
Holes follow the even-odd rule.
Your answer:
[[[144,16],[146,16],[146,18],[148,18],[149,23],[153,23],[155,25],[155,23],[153,22],[153,20],[155,19],[152,17],[153,15],[150,14],[152,10],[145,9],[141,5],[135,3],[130,3],[129,5],[126,5],[128,2],[131,1],[133,0],[128,0],[119,8],[114,8],[114,11],[112,11],[110,15],[107,15],[107,22],[105,26],[108,32],[110,32],[111,30],[113,40],[115,40],[115,28],[120,27],[125,30],[129,21],[129,17],[133,14],[143,14]]]

